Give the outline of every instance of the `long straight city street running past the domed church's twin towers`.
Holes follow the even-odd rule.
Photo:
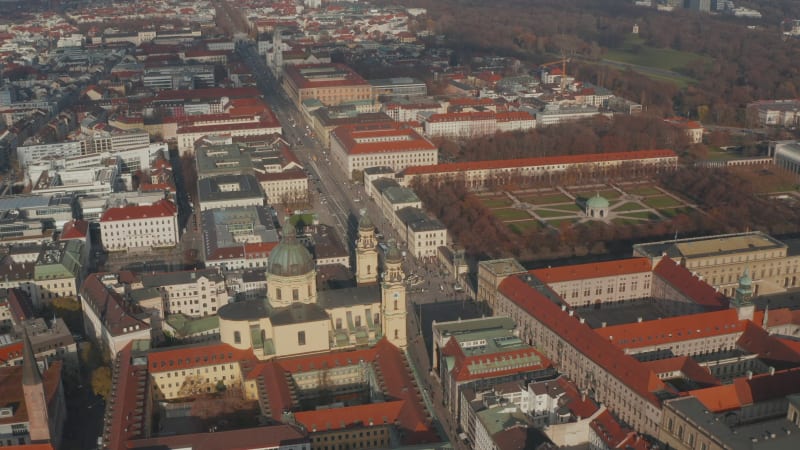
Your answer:
[[[357,238],[358,218],[361,210],[365,210],[373,220],[378,231],[383,234],[383,242],[394,239],[401,249],[404,244],[398,239],[396,232],[390,227],[389,222],[383,217],[375,202],[367,198],[364,186],[349,179],[349,174],[342,173],[337,167],[331,165],[328,159],[328,149],[321,146],[319,140],[307,128],[301,113],[297,110],[278,86],[277,80],[267,69],[264,58],[257,54],[252,44],[240,46],[240,52],[247,61],[251,70],[256,74],[259,88],[264,94],[264,99],[272,108],[283,128],[284,138],[293,145],[294,152],[301,163],[306,167],[310,176],[310,188],[315,192],[313,205],[315,212],[322,223],[333,225],[343,242],[350,245]],[[299,144],[298,144],[299,143]],[[316,195],[319,194],[319,195]],[[455,292],[456,284],[452,274],[447,274],[434,261],[417,261],[412,255],[404,258],[403,269],[406,276],[417,275],[419,281],[408,286],[407,307],[408,311],[408,353],[411,363],[417,372],[418,379],[425,391],[426,400],[433,408],[443,431],[447,434],[455,448],[467,449],[468,446],[458,441],[456,424],[452,422],[442,402],[441,386],[430,374],[430,355],[424,336],[430,336],[431,322],[435,320],[457,320],[462,317],[460,311],[464,310],[464,318],[475,317],[474,305],[468,302],[465,293]],[[439,305],[441,302],[441,305]],[[454,307],[460,306],[460,307]],[[441,306],[442,308],[438,308]],[[430,317],[423,317],[423,327],[419,325],[419,315],[427,311],[444,311],[443,314],[433,312]],[[422,328],[422,333],[420,329]],[[429,339],[429,338],[428,338]]]

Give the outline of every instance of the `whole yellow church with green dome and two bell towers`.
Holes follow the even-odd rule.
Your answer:
[[[386,338],[406,347],[406,289],[402,255],[393,243],[381,272],[375,227],[366,215],[355,245],[356,285],[317,289],[317,270],[293,226],[270,252],[267,295],[220,308],[220,339],[253,349],[259,359],[367,347]]]

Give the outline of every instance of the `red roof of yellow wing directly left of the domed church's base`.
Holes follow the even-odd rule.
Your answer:
[[[250,361],[254,358],[252,350],[239,350],[228,344],[214,344],[154,350],[147,355],[147,365],[150,373],[159,373],[217,364],[238,363],[239,361]]]

